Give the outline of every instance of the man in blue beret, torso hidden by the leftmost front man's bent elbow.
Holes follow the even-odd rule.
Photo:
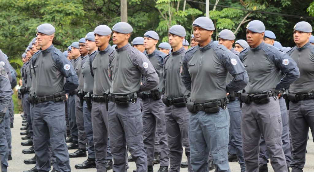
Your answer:
[[[74,69],[78,69],[78,66],[79,66],[78,61],[82,61],[82,58],[80,58],[78,42],[73,42],[71,44],[71,56],[72,56],[72,59],[70,60],[71,64],[73,65]],[[75,63],[75,62],[77,62],[77,63]],[[77,72],[75,72],[75,73],[77,73]],[[69,93],[69,106],[68,106],[69,110],[68,110],[68,113],[71,116],[69,118],[69,125],[70,125],[72,138],[68,138],[68,140],[72,139],[72,142],[67,145],[68,149],[79,149],[79,146],[84,147],[83,142],[80,142],[80,145],[78,144],[79,135],[78,135],[77,120],[76,120],[76,115],[75,115],[75,98],[76,98],[77,92],[78,92],[78,89],[75,89],[73,92]],[[84,141],[83,137],[80,137],[80,138],[81,138],[80,141],[82,141],[82,140]]]

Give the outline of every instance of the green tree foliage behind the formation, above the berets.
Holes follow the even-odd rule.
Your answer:
[[[134,31],[131,40],[155,30],[160,35],[160,43],[165,42],[169,27],[175,24],[185,27],[190,40],[193,20],[205,16],[205,0],[187,0],[185,5],[184,0],[127,2],[128,23]],[[210,0],[209,8],[209,17],[216,28],[214,40],[222,29],[235,32],[236,39],[246,39],[247,23],[261,20],[284,47],[293,47],[294,25],[314,21],[314,3],[309,0]],[[120,0],[1,0],[0,48],[19,73],[21,55],[40,24],[51,23],[56,28],[53,44],[64,51],[96,26],[112,27],[119,21]]]

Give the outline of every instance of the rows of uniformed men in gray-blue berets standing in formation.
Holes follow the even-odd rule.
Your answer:
[[[287,53],[258,20],[248,23],[246,41],[235,48],[227,29],[218,44],[212,41],[209,18],[192,25],[188,50],[181,25],[169,29],[169,44],[157,50],[158,33],[146,32],[132,47],[133,28],[119,22],[97,26],[63,53],[52,44],[55,28],[38,26],[22,68],[29,134],[22,145],[32,145],[23,153],[35,153],[24,163],[36,164],[26,172],[50,171],[51,164],[54,171],[71,171],[69,158],[86,157],[86,151],[88,159],[76,169],[126,172],[134,161],[137,172],[153,172],[154,164],[160,164],[158,172],[180,166],[222,172],[230,171],[233,158],[241,171],[251,172],[268,171],[270,158],[276,172],[302,171],[314,122],[311,25],[295,25],[296,46]],[[1,82],[9,83],[4,66]],[[8,83],[1,84],[0,122],[11,99]],[[5,170],[7,149],[0,150]]]

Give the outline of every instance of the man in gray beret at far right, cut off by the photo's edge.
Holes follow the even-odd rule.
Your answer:
[[[287,52],[295,60],[300,69],[300,78],[290,85],[288,94],[288,99],[290,100],[289,122],[293,146],[292,172],[301,172],[304,168],[309,127],[311,128],[312,135],[314,128],[314,47],[309,43],[311,33],[312,27],[310,23],[304,21],[296,23],[293,31],[293,39],[296,45]]]

